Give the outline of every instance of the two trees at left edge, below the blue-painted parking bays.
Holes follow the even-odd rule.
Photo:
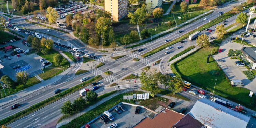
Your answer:
[[[22,84],[23,86],[26,85],[28,82],[29,76],[28,73],[25,71],[17,72],[16,73],[16,82],[13,81],[8,75],[4,75],[1,77],[1,81],[8,87],[15,89],[19,84]]]

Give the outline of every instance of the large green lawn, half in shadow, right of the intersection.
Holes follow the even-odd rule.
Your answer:
[[[206,63],[207,55],[211,54],[211,51],[216,51],[218,48],[218,46],[202,48],[177,62],[174,66],[184,80],[211,92],[213,92],[215,79],[217,79],[214,94],[255,110],[251,105],[253,98],[248,97],[250,90],[232,87],[225,79],[225,73],[218,68],[217,62],[212,57],[210,57],[209,63]]]

